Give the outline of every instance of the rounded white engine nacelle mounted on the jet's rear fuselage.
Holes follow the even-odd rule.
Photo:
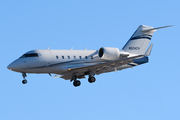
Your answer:
[[[102,47],[99,49],[98,55],[102,59],[116,60],[120,57],[120,51],[118,48]]]

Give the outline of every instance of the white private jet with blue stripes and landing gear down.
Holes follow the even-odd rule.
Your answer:
[[[157,29],[140,25],[120,50],[114,47],[101,47],[99,50],[50,50],[36,49],[23,54],[7,66],[9,70],[22,73],[22,83],[26,84],[26,73],[56,74],[73,81],[75,87],[81,82],[77,79],[88,76],[89,83],[96,81],[95,75],[119,71],[147,63],[153,44],[148,48],[153,33]],[[148,49],[147,49],[148,48]]]

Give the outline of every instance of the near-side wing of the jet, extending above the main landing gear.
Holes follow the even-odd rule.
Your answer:
[[[98,63],[91,66],[85,66],[85,67],[78,67],[78,68],[70,68],[67,70],[67,72],[61,74],[61,78],[65,80],[71,80],[74,75],[77,76],[78,79],[85,78],[85,75],[88,75],[89,71],[91,71],[93,74],[102,74],[106,72],[116,71],[117,67],[127,65],[129,63],[133,62],[133,59],[144,57],[143,55],[133,56],[133,57],[126,57],[121,58],[118,60],[113,61],[107,61],[104,63]]]

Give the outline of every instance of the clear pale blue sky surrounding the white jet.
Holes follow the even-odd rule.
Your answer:
[[[178,0],[1,0],[1,120],[179,120]],[[121,49],[139,25],[157,30],[149,63],[81,86],[7,66],[33,49]]]

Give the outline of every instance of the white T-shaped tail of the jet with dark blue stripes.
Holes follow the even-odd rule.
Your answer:
[[[122,51],[128,52],[130,54],[138,54],[145,56],[150,54],[152,45],[150,46],[150,49],[148,49],[147,51],[146,49],[153,36],[153,33],[157,29],[166,28],[166,27],[171,27],[171,26],[153,28],[150,26],[140,25],[137,28],[137,30],[134,32],[134,34],[131,36],[131,38],[128,40],[128,42],[125,44],[125,46],[122,48]],[[149,53],[147,54],[147,52]]]

